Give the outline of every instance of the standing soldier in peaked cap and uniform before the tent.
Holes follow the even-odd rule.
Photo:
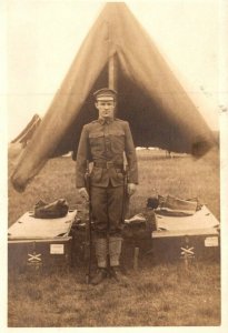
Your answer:
[[[91,283],[99,284],[109,274],[118,282],[123,278],[119,270],[125,191],[123,155],[126,154],[128,162],[129,196],[135,193],[138,184],[138,167],[129,124],[115,118],[117,92],[103,88],[93,95],[99,117],[86,124],[81,132],[77,153],[77,188],[80,195],[88,200],[85,173],[87,161],[92,161],[90,198],[98,270]]]

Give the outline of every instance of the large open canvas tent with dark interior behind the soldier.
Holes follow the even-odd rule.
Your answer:
[[[48,159],[73,151],[82,125],[97,118],[92,92],[118,91],[117,118],[135,144],[204,153],[212,137],[150,37],[125,3],[107,3],[85,39],[12,176],[22,191]]]

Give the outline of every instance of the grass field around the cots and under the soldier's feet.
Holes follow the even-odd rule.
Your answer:
[[[131,200],[130,215],[141,212],[155,193],[198,198],[220,218],[219,157],[217,151],[194,160],[189,155],[166,159],[163,151],[138,151],[140,184]],[[12,163],[9,162],[9,174]],[[80,203],[75,189],[75,162],[49,161],[24,193],[9,183],[9,225],[32,210],[39,199],[65,198],[71,208]],[[126,251],[127,253],[127,251]],[[85,326],[214,326],[220,323],[220,262],[194,260],[186,271],[181,261],[155,262],[150,252],[139,258],[123,253],[130,284],[112,280],[85,284],[85,264],[69,270],[9,272],[9,322],[12,327]]]

